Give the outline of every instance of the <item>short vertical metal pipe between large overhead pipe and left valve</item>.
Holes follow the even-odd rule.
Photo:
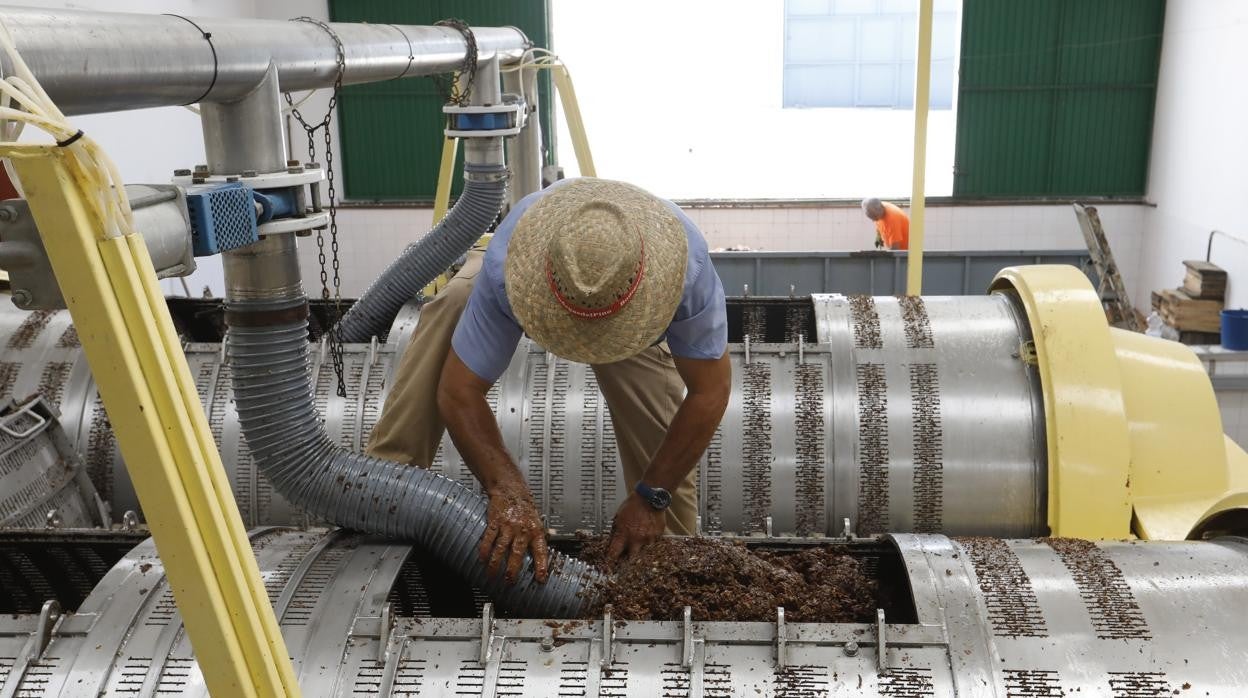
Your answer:
[[[286,127],[276,64],[268,64],[265,77],[245,97],[203,102],[200,121],[213,175],[286,170]]]

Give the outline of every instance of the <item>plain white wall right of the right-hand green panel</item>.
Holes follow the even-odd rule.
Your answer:
[[[1248,238],[1248,2],[1166,4],[1138,302],[1178,286],[1182,260],[1203,260],[1211,230]],[[1248,246],[1218,240],[1228,305],[1248,306]]]

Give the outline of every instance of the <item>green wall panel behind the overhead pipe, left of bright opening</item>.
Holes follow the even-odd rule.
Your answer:
[[[517,26],[549,46],[545,0],[329,0],[332,21],[429,25],[462,19],[469,26]],[[539,79],[542,132],[552,147],[550,79]],[[442,157],[443,99],[431,77],[342,89],[338,105],[342,179],[352,201],[431,201]],[[456,180],[454,192],[459,191]]]

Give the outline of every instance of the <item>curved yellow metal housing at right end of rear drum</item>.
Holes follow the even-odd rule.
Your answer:
[[[1055,536],[1183,539],[1248,506],[1248,456],[1191,350],[1111,328],[1071,266],[1006,268],[992,291],[1017,295],[1031,326]]]

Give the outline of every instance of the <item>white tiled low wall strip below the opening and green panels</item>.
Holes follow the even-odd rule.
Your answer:
[[[705,207],[689,216],[711,248],[745,245],[753,250],[836,251],[870,248],[875,229],[859,206]],[[1113,253],[1128,288],[1139,267],[1142,205],[1098,207]],[[428,231],[429,209],[343,209],[343,293],[358,295],[403,247]],[[1083,237],[1068,205],[932,206],[927,209],[929,250],[1071,250]],[[305,278],[316,287],[318,266],[313,238],[300,241]],[[1147,297],[1147,292],[1144,292]]]

